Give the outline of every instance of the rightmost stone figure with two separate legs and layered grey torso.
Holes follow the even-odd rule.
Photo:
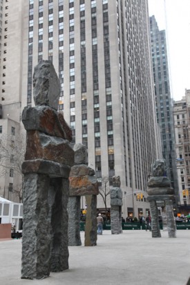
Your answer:
[[[151,227],[152,237],[161,237],[160,226],[158,223],[158,205],[157,201],[164,201],[167,213],[167,229],[169,237],[176,237],[176,226],[173,215],[173,200],[175,199],[174,190],[171,182],[166,176],[164,160],[155,160],[152,168],[152,176],[147,183],[147,200],[151,207]]]

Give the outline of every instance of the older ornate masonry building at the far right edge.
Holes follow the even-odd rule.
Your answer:
[[[186,206],[190,204],[190,90],[186,89],[182,100],[174,102],[173,117],[180,205]]]

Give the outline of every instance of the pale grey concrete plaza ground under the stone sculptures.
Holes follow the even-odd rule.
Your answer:
[[[152,238],[145,230],[111,235],[104,230],[97,246],[69,247],[69,269],[42,280],[21,279],[21,239],[0,242],[1,285],[186,285],[190,276],[190,230],[177,238]]]

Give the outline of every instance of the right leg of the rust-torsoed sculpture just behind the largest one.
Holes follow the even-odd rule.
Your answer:
[[[97,196],[86,195],[86,226],[84,246],[96,246],[97,241]]]

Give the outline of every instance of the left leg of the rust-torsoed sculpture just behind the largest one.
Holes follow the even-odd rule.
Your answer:
[[[80,196],[68,199],[68,246],[81,246],[80,238]]]

